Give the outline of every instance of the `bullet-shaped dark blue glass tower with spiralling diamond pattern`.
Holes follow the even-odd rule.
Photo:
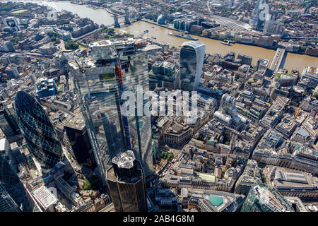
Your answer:
[[[63,158],[59,137],[39,102],[23,90],[16,93],[18,124],[30,153],[43,169],[54,167]]]

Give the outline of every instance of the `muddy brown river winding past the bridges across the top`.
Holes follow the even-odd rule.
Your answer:
[[[51,6],[57,11],[66,10],[72,13],[77,13],[78,16],[83,18],[90,18],[99,25],[111,25],[114,22],[111,14],[103,9],[93,9],[86,5],[71,4],[69,1],[27,0],[25,2],[36,2],[37,4]],[[119,19],[119,21],[121,20],[123,19]],[[173,37],[168,35],[168,32],[171,32],[172,30],[143,21],[132,23],[131,25],[124,28],[118,28],[117,31],[118,30],[130,32],[133,35],[140,35],[144,30],[148,30],[148,34],[146,34],[144,37],[156,37],[157,40],[168,42],[170,44],[170,47],[180,46],[183,42],[187,41],[181,37]],[[245,44],[232,44],[232,46],[225,46],[223,44],[220,44],[220,41],[218,40],[212,40],[196,35],[192,36],[198,38],[200,42],[204,42],[204,44],[206,44],[207,53],[220,53],[224,55],[232,51],[236,52],[237,54],[247,54],[248,56],[251,56],[253,58],[253,64],[256,64],[256,61],[259,58],[269,59],[271,61],[275,54],[275,50],[271,49],[254,47]],[[304,69],[305,66],[318,66],[318,58],[310,57],[307,55],[288,53],[283,68],[288,69],[288,71],[290,71],[291,69],[300,69],[301,73],[302,69]]]

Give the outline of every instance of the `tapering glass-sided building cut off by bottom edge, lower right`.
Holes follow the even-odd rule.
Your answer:
[[[241,212],[293,212],[293,207],[273,187],[254,184],[243,203]]]

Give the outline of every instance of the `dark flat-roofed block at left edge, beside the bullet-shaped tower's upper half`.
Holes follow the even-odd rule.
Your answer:
[[[0,128],[6,138],[21,134],[11,102],[0,103]]]

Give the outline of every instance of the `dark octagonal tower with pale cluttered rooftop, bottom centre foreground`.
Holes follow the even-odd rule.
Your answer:
[[[107,184],[116,212],[146,212],[146,184],[143,168],[134,153],[126,150],[112,159]]]

